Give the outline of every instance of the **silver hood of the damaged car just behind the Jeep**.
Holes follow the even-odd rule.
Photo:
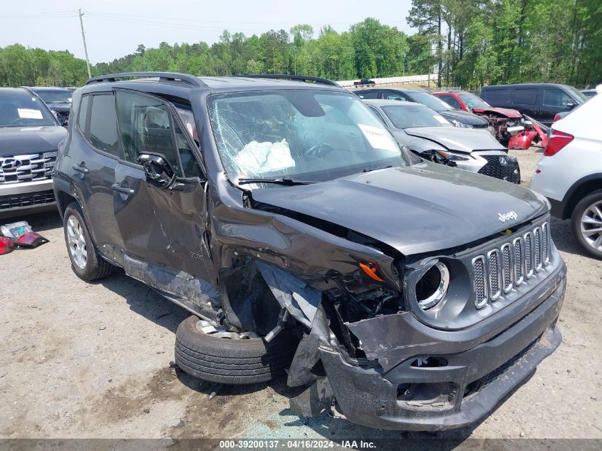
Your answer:
[[[406,128],[410,136],[424,138],[442,145],[447,150],[470,153],[474,150],[507,150],[489,130],[471,130],[457,127]]]

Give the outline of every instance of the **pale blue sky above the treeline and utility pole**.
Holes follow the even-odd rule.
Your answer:
[[[372,6],[376,5],[378,6]],[[4,1],[0,47],[21,43],[46,50],[68,50],[83,58],[78,8],[84,11],[91,63],[112,61],[135,51],[139,43],[217,41],[224,29],[247,36],[310,24],[317,32],[330,24],[344,31],[365,17],[412,32],[405,21],[411,0],[34,0]]]

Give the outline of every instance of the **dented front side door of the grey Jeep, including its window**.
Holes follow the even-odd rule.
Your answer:
[[[207,185],[198,148],[193,150],[194,141],[170,103],[128,90],[116,90],[115,95],[124,156],[113,190],[125,251],[135,261],[209,279]],[[164,155],[178,177],[177,189],[147,183],[137,162],[140,152]],[[126,272],[130,266],[126,264]]]

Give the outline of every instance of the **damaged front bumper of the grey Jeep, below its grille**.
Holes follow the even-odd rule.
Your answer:
[[[356,366],[321,343],[321,360],[339,409],[353,423],[381,429],[446,430],[474,423],[558,348],[562,338],[556,320],[565,288],[563,263],[543,293],[530,295],[538,299],[521,300],[536,307],[493,338],[466,348],[469,340],[450,332],[447,342],[417,343],[412,358],[386,373]],[[462,351],[437,353],[450,343]],[[427,358],[445,365],[416,365]]]

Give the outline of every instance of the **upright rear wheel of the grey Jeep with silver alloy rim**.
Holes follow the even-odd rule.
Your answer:
[[[71,269],[76,276],[85,281],[93,281],[103,279],[113,271],[113,265],[100,256],[92,242],[88,226],[76,202],[71,202],[65,209],[63,232]]]

